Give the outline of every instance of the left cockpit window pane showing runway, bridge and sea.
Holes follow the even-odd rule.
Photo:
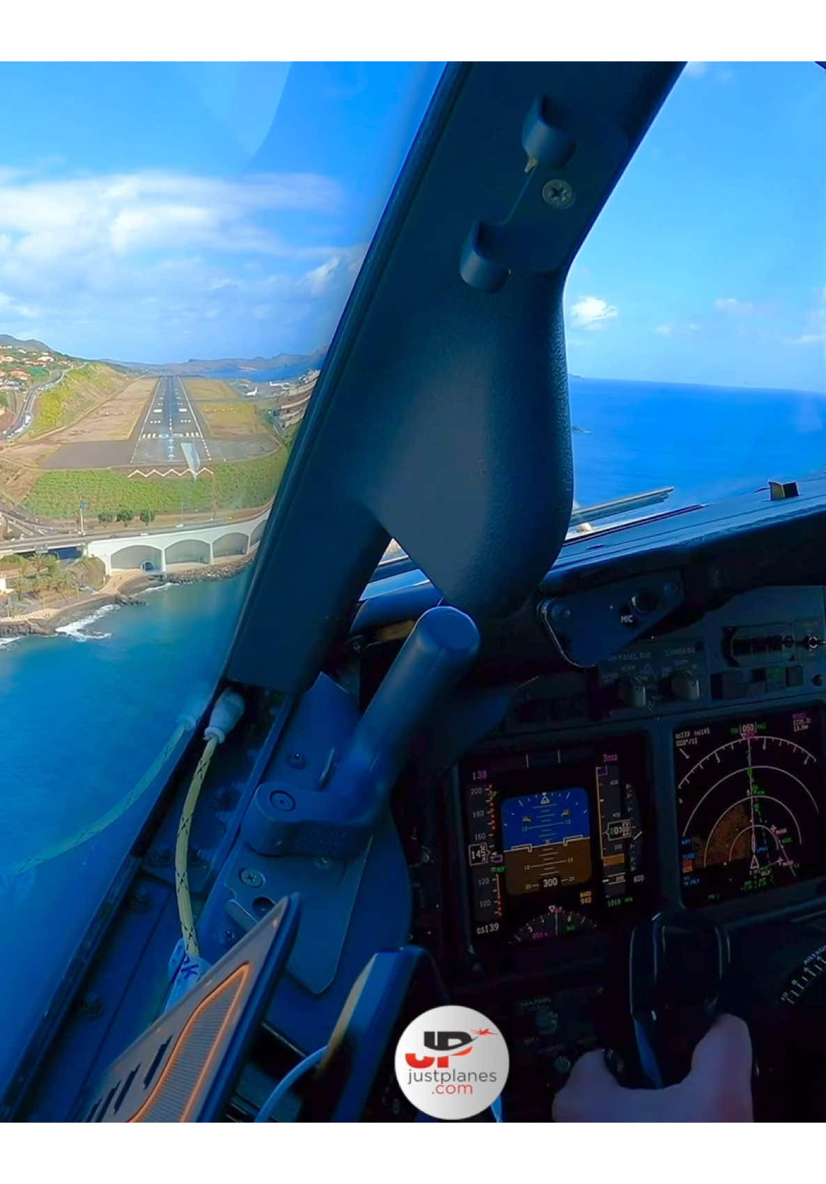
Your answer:
[[[2,69],[5,1079],[222,671],[441,67]]]

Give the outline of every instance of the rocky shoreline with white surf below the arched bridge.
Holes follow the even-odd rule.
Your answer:
[[[256,548],[257,549],[257,548]],[[238,555],[222,564],[180,564],[164,574],[148,575],[143,572],[119,572],[110,577],[98,592],[89,593],[75,604],[60,609],[33,609],[19,617],[0,620],[0,638],[56,637],[58,630],[82,620],[90,613],[109,605],[140,606],[141,593],[167,584],[198,584],[206,580],[226,580],[238,575],[255,560],[256,552]]]

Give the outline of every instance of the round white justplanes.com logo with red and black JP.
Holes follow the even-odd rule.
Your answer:
[[[510,1057],[501,1032],[470,1008],[434,1008],[414,1019],[396,1045],[402,1093],[423,1114],[473,1118],[499,1098]]]

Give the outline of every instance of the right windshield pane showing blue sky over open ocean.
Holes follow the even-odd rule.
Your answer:
[[[625,517],[661,514],[826,465],[825,103],[814,63],[678,79],[566,284],[581,507],[654,493]]]

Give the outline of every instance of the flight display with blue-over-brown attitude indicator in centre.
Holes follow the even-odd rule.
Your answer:
[[[460,770],[473,934],[526,945],[648,910],[646,739],[497,753]]]

